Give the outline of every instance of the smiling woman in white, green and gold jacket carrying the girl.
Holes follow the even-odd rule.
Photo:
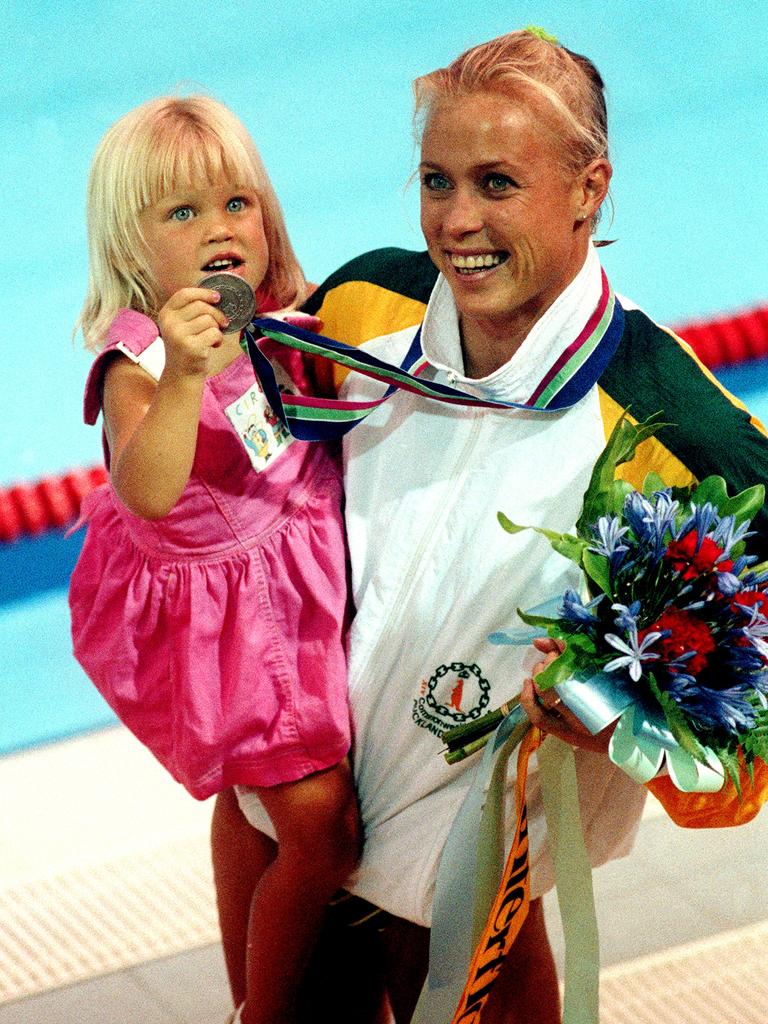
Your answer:
[[[561,378],[571,390],[554,413],[462,410],[400,392],[345,441],[350,701],[366,830],[350,889],[386,911],[378,923],[398,1024],[423,982],[439,855],[474,766],[443,763],[444,728],[522,687],[535,724],[577,749],[593,865],[630,850],[644,802],[644,790],[605,757],[606,736],[589,736],[550,695],[549,707],[537,698],[529,676],[540,655],[487,643],[516,606],[575,582],[541,538],[505,536],[497,511],[572,527],[594,461],[630,401],[636,419],[662,410],[676,424],[626,467],[634,484],[650,469],[669,484],[717,471],[740,489],[768,472],[762,430],[677,339],[625,300],[613,334],[596,336],[595,313],[610,293],[591,234],[611,166],[592,63],[549,38],[512,33],[417,80],[416,96],[422,228],[439,271],[423,313],[427,374],[520,404]],[[346,341],[394,331],[371,350],[399,362],[433,280],[421,255],[361,257],[319,290],[312,311]],[[380,393],[356,377],[345,387],[355,399]],[[527,794],[531,908],[483,1021],[553,1024],[557,982],[541,907],[552,870],[536,770]],[[243,809],[262,826],[258,808]],[[222,839],[238,828],[230,803],[217,822],[226,932],[237,919],[227,898],[237,872]],[[369,1018],[352,1011],[350,1019]]]

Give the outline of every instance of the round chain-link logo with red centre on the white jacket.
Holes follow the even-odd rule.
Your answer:
[[[490,683],[476,665],[452,662],[423,679],[413,718],[436,736],[462,722],[479,718],[490,700]]]

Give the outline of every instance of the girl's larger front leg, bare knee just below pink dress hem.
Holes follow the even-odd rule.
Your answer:
[[[346,760],[258,796],[278,853],[251,905],[243,1024],[287,1024],[326,906],[357,862],[359,817]]]

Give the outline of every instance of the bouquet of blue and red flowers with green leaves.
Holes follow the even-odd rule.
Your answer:
[[[536,529],[583,570],[582,593],[566,591],[553,602],[555,614],[518,615],[565,644],[538,676],[540,689],[557,686],[566,703],[567,688],[580,681],[588,703],[595,686],[621,691],[618,707],[634,707],[636,737],[643,729],[666,734],[668,750],[714,766],[719,785],[730,777],[738,790],[740,765],[752,777],[756,759],[768,761],[768,563],[756,565],[748,551],[765,488],[729,497],[719,476],[675,488],[649,474],[638,492],[616,479],[616,467],[660,426],[658,415],[618,421],[595,465],[575,536],[520,526],[499,513],[507,531]],[[514,642],[505,634],[492,640]],[[483,745],[514,703],[444,733],[449,762]],[[595,731],[616,717],[598,721]],[[659,766],[660,755],[649,777]]]

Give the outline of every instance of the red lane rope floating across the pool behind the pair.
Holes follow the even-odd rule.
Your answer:
[[[759,359],[768,355],[768,305],[675,331],[710,369]],[[103,466],[90,466],[0,489],[0,543],[74,522],[85,496],[105,480]]]

